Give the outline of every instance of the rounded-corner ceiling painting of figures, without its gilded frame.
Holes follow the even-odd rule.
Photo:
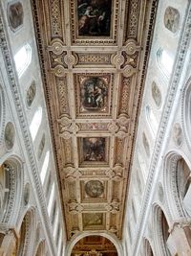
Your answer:
[[[87,110],[100,110],[106,106],[107,87],[99,78],[90,78],[81,89],[82,105]]]

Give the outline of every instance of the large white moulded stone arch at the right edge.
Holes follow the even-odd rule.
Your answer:
[[[186,211],[183,208],[182,199],[180,198],[180,188],[178,184],[178,173],[180,173],[178,172],[178,169],[180,168],[180,160],[183,160],[190,169],[189,160],[180,151],[169,152],[164,161],[164,195],[173,220],[178,220],[187,216]]]

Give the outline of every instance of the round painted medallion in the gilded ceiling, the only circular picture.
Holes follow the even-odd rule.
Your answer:
[[[90,198],[98,198],[103,194],[104,187],[99,180],[90,180],[85,184],[86,194]]]

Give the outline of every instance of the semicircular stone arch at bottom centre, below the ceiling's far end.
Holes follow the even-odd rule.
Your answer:
[[[108,240],[110,240],[117,248],[117,255],[118,256],[124,256],[123,253],[123,249],[122,249],[122,245],[120,244],[120,242],[117,239],[117,236],[113,233],[109,233],[109,232],[96,232],[96,231],[85,231],[85,232],[78,232],[77,234],[75,234],[73,236],[73,238],[71,239],[71,241],[69,242],[69,244],[66,246],[66,250],[65,250],[65,255],[66,256],[71,256],[74,244],[76,244],[80,239],[87,237],[87,236],[102,236],[107,238]]]

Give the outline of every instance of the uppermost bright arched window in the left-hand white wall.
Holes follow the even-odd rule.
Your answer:
[[[20,78],[29,67],[32,61],[32,47],[29,43],[24,45],[14,56],[16,71]]]

